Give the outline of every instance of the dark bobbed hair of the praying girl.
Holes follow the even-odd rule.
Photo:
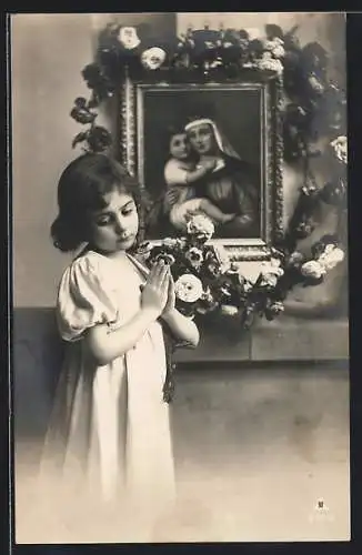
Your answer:
[[[145,202],[138,181],[115,160],[105,154],[87,153],[73,160],[58,183],[59,213],[50,233],[62,252],[74,251],[87,242],[87,212],[105,208],[104,195],[115,189],[130,194],[143,229]]]

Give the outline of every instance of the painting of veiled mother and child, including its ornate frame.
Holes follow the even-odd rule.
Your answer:
[[[233,260],[268,258],[283,233],[280,83],[125,79],[121,159],[151,200],[144,239],[181,236],[190,215],[212,219]]]

